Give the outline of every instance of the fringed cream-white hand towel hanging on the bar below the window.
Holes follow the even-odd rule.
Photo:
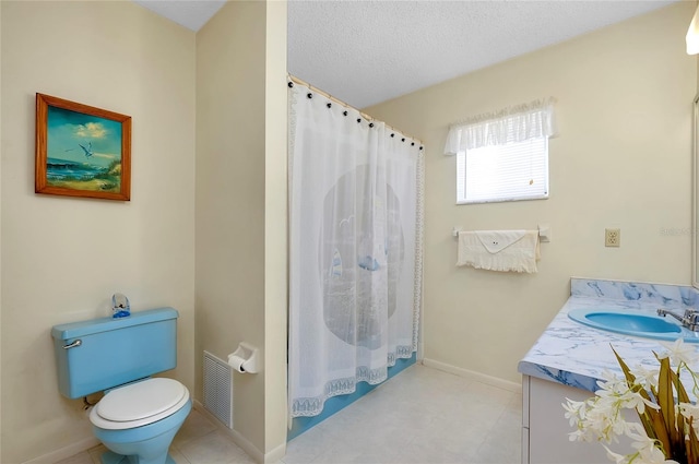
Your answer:
[[[537,272],[538,230],[459,233],[457,265],[501,272]]]

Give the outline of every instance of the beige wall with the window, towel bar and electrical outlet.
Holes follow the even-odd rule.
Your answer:
[[[519,382],[517,364],[566,301],[571,276],[690,284],[697,61],[684,40],[695,7],[679,2],[366,108],[427,147],[426,359]],[[549,144],[550,198],[455,205],[448,126],[549,95],[560,132]],[[452,227],[541,223],[553,240],[537,274],[454,266]],[[621,229],[620,248],[604,247],[605,227]]]

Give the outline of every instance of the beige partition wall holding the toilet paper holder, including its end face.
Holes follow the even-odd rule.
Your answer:
[[[257,459],[285,443],[285,75],[284,3],[228,2],[197,35],[197,397],[203,350],[260,348],[261,372],[234,374]]]

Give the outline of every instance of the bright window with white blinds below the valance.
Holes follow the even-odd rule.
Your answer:
[[[457,152],[457,203],[548,198],[548,136]]]

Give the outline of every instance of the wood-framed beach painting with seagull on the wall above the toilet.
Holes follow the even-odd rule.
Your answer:
[[[131,117],[36,94],[36,193],[128,201]]]

